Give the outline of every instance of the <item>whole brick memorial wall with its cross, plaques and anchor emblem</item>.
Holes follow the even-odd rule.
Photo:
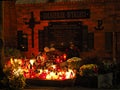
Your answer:
[[[83,56],[94,54],[103,57],[110,56],[113,42],[106,38],[111,38],[112,32],[120,31],[118,28],[120,21],[119,3],[117,1],[113,2],[112,0],[110,2],[107,0],[87,0],[84,2],[37,4],[16,3],[15,15],[17,22],[15,24],[17,24],[17,31],[14,28],[13,32],[16,35],[14,38],[19,38],[17,41],[22,40],[22,43],[15,41],[15,45],[29,57],[31,53],[37,55],[46,45],[49,46],[51,42],[59,44],[65,41],[66,43],[74,41],[81,49],[81,55]],[[10,10],[12,11],[13,8]],[[11,20],[14,21],[13,18]],[[7,22],[6,18],[5,22]],[[11,23],[11,26],[15,24]],[[7,25],[10,26],[10,23]],[[9,32],[7,27],[5,31]],[[106,36],[105,33],[109,34]],[[25,37],[22,37],[22,35],[25,35]],[[117,33],[117,37],[118,35],[119,33]],[[8,36],[5,37],[7,38]],[[110,53],[106,53],[107,49],[105,46],[108,45],[105,43],[106,41],[109,42],[107,49],[109,49]],[[5,42],[10,43],[10,40]],[[22,48],[21,45],[25,48]],[[117,48],[118,45],[119,42],[117,42]]]

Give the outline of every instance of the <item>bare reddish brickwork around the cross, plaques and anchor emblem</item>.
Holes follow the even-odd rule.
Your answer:
[[[9,4],[9,3],[6,3]],[[11,5],[11,4],[9,4]],[[117,5],[118,6],[118,5]],[[13,6],[12,6],[13,7]],[[90,19],[69,19],[69,20],[40,20],[40,11],[56,11],[56,10],[75,10],[75,9],[90,9],[91,17]],[[28,52],[24,52],[25,55],[30,57],[31,53],[33,52],[35,55],[38,54],[38,30],[44,30],[45,26],[48,26],[49,22],[59,22],[59,21],[82,21],[84,25],[88,26],[89,32],[94,32],[95,37],[95,51],[98,51],[98,53],[105,52],[104,51],[104,32],[106,31],[113,31],[114,24],[113,24],[113,18],[110,15],[114,15],[115,13],[115,7],[114,3],[109,2],[59,2],[59,3],[43,3],[43,4],[16,4],[16,14],[11,14],[12,11],[8,10],[15,10],[13,8],[5,7],[5,17],[4,18],[4,29],[7,33],[5,35],[6,38],[6,44],[10,43],[13,45],[13,43],[16,43],[16,40],[13,39],[17,38],[16,33],[19,30],[22,30],[23,33],[28,34]],[[109,10],[109,11],[108,11]],[[118,9],[117,9],[118,10]],[[34,48],[32,48],[31,44],[31,29],[28,27],[28,25],[25,24],[25,22],[29,22],[30,19],[30,13],[34,13],[35,21],[40,21],[40,24],[36,24],[34,27]],[[17,17],[17,23],[16,18]],[[118,19],[118,18],[117,18]],[[104,29],[101,31],[96,31],[94,27],[97,26],[97,21],[102,20]],[[12,23],[11,23],[12,21]],[[118,20],[119,21],[119,20]],[[13,23],[14,22],[14,23]],[[17,29],[16,29],[17,26]],[[119,28],[116,29],[117,32],[119,32]],[[11,33],[11,34],[9,34]],[[14,36],[13,34],[14,33]],[[13,43],[11,43],[13,42]],[[8,44],[7,44],[8,45]],[[16,45],[16,44],[15,44]],[[99,52],[100,51],[100,52]],[[85,52],[83,56],[87,56],[88,53],[91,52]],[[95,53],[94,53],[95,54]],[[91,55],[91,54],[90,54]]]

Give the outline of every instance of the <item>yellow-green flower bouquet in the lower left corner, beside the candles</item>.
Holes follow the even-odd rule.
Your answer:
[[[11,59],[10,62],[5,64],[3,71],[5,73],[5,77],[1,82],[5,88],[18,90],[25,87],[25,77],[23,76],[23,71],[20,68],[19,63],[16,63]]]

